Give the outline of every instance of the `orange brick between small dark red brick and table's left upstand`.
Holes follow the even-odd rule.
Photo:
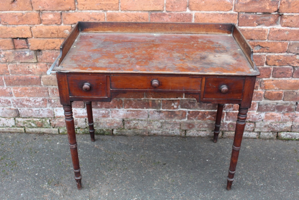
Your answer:
[[[59,49],[63,41],[64,39],[28,38],[29,49],[31,50]]]

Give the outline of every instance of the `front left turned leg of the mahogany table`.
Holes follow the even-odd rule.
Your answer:
[[[79,166],[79,158],[78,158],[78,150],[77,150],[77,141],[76,141],[76,133],[75,133],[75,125],[74,125],[74,118],[72,112],[71,105],[63,105],[64,116],[65,116],[65,125],[66,130],[68,132],[68,143],[71,150],[71,156],[73,161],[74,173],[75,173],[75,180],[77,182],[78,190],[82,189],[81,184],[81,173],[80,173],[80,166]]]

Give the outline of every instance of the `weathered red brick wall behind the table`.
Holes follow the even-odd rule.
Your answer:
[[[254,48],[258,77],[245,137],[299,139],[299,0],[1,0],[0,132],[65,133],[46,70],[77,21],[232,22]],[[74,102],[77,133],[88,133]],[[184,94],[132,93],[94,103],[98,133],[211,135],[216,105]],[[238,106],[226,105],[222,136]]]

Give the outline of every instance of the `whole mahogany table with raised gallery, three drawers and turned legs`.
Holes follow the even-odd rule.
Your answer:
[[[236,25],[78,22],[47,73],[55,71],[79,190],[82,177],[71,103],[86,102],[94,141],[91,102],[110,102],[126,92],[185,93],[199,103],[217,103],[213,142],[217,142],[223,105],[239,104],[227,177],[227,190],[231,190],[260,75],[253,50]]]

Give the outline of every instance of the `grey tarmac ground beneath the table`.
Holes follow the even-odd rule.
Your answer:
[[[299,141],[78,135],[83,190],[66,135],[1,134],[0,199],[299,199]]]

